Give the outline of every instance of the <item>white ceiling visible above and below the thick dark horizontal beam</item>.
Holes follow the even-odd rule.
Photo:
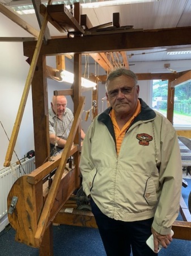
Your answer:
[[[26,0],[0,0],[7,6],[24,3]],[[31,2],[31,0],[27,0]],[[83,1],[81,1],[83,2]],[[98,1],[99,2],[99,1]],[[82,9],[82,14],[87,14],[93,26],[112,22],[113,13],[120,13],[121,26],[133,26],[134,29],[156,30],[160,28],[175,28],[191,26],[191,0],[159,0],[158,2],[133,3]],[[39,30],[35,14],[20,15],[27,23]],[[48,23],[51,36],[61,36],[50,23]],[[191,36],[190,36],[191,46]],[[129,57],[133,53],[132,57]],[[190,60],[191,54],[167,55],[165,48],[127,52],[129,64],[137,61],[168,61]]]

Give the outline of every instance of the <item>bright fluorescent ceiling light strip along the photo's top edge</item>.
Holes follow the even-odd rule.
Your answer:
[[[73,5],[75,2],[80,2],[82,8],[97,8],[97,7],[104,7],[104,6],[114,6],[114,5],[126,5],[131,3],[148,3],[148,2],[159,2],[159,0],[110,0],[110,1],[101,1],[97,2],[97,0],[73,0],[73,1],[53,1],[53,5],[61,5],[64,4],[68,9],[70,9],[70,5]],[[44,3],[46,6],[48,1],[42,0],[41,3]],[[22,14],[32,14],[35,13],[33,5],[31,5],[31,1],[12,1],[9,4],[10,7],[20,15]]]

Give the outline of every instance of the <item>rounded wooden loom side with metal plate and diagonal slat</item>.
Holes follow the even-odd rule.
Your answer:
[[[47,238],[50,239],[52,221],[78,187],[78,168],[67,167],[66,161],[78,151],[79,145],[73,145],[73,141],[83,104],[84,98],[81,98],[62,154],[53,156],[51,162],[44,163],[31,174],[20,177],[11,188],[7,199],[9,221],[16,230],[16,240],[19,242],[42,248],[45,234],[45,243],[51,245]],[[52,173],[54,170],[55,174]],[[50,251],[45,254],[44,246],[42,255],[50,255]]]

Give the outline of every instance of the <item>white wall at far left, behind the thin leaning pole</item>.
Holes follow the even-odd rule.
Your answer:
[[[0,36],[12,37],[19,36],[23,31],[16,26],[10,19],[0,13]],[[26,32],[26,36],[29,36]],[[29,65],[26,63],[27,57],[23,56],[22,43],[0,42],[0,170],[3,168],[9,140],[14,127],[16,115],[18,113],[20,100],[22,98],[24,85],[28,75]],[[3,130],[3,127],[5,131]],[[6,133],[7,136],[6,136]],[[33,117],[32,117],[32,98],[29,92],[23,120],[20,125],[18,139],[15,145],[15,152],[21,159],[29,150],[34,148],[33,143]],[[11,163],[17,160],[15,153],[12,155]]]

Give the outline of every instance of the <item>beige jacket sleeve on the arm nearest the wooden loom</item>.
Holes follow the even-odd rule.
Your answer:
[[[82,174],[83,191],[86,193],[86,196],[90,195],[90,186],[87,184],[88,176],[90,172],[94,169],[94,162],[91,158],[92,130],[93,128],[91,125],[83,140],[82,154],[80,155],[80,163],[79,163],[80,172]]]

